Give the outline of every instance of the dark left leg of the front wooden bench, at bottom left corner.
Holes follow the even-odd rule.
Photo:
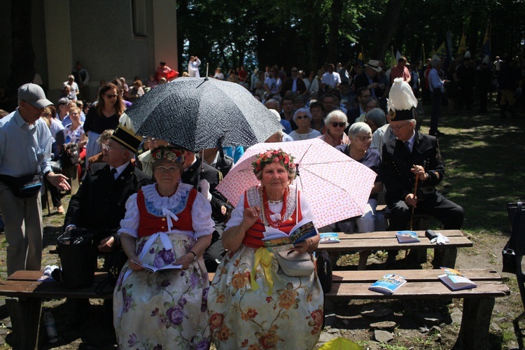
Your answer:
[[[18,349],[38,349],[42,300],[38,297],[8,297],[6,306]]]

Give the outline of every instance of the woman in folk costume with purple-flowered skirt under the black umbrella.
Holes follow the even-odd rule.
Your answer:
[[[211,206],[181,183],[184,157],[163,146],[151,153],[157,183],[126,203],[120,237],[128,257],[113,293],[120,349],[209,349],[209,277],[202,254],[214,232]],[[151,272],[143,265],[179,268]]]

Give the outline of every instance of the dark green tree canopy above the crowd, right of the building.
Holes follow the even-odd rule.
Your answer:
[[[179,62],[197,55],[223,68],[318,69],[327,62],[385,59],[391,48],[409,60],[430,57],[452,34],[480,57],[491,24],[491,56],[521,55],[525,39],[522,0],[181,0]]]

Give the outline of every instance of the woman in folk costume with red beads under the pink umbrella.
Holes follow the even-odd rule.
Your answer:
[[[253,172],[261,185],[248,188],[232,211],[223,233],[230,253],[210,285],[212,338],[218,349],[311,349],[323,323],[323,291],[313,265],[303,276],[288,276],[279,253],[270,253],[262,238],[269,227],[289,234],[314,215],[304,195],[290,188],[293,157],[281,150],[260,153]],[[316,234],[295,244],[292,255],[309,258],[318,241]]]

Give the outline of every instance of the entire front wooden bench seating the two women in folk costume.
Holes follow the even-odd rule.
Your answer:
[[[368,287],[387,270],[375,271],[335,271],[332,276],[332,290],[325,294],[325,300],[413,300],[413,299],[451,299],[463,298],[463,318],[458,336],[458,344],[465,349],[481,349],[488,344],[489,324],[495,297],[510,294],[501,277],[493,270],[462,270],[469,279],[477,283],[477,288],[451,291],[437,278],[440,270],[402,270],[407,283],[393,295],[384,295],[368,290]],[[15,330],[15,337],[21,349],[37,349],[38,339],[45,336],[41,326],[42,300],[46,298],[102,298],[111,299],[113,294],[99,295],[95,289],[106,279],[106,272],[96,272],[94,285],[90,288],[69,290],[58,282],[36,281],[42,272],[18,271],[7,281],[0,281],[0,295],[6,296],[6,305]],[[214,274],[209,274],[213,279]]]

